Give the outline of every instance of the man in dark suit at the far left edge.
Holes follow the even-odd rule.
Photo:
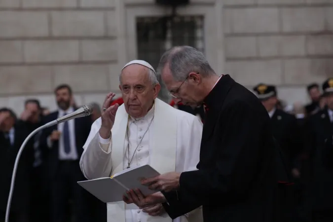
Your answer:
[[[24,122],[17,120],[15,113],[0,109],[0,222],[4,222],[11,178],[17,153],[28,136]],[[32,144],[24,148],[15,177],[9,221],[29,222],[30,183],[33,163]]]

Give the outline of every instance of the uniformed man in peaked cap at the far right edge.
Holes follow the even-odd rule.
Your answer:
[[[333,221],[333,78],[323,83],[327,107],[306,122],[309,199],[313,222]]]

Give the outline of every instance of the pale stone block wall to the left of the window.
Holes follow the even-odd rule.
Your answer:
[[[70,84],[78,105],[118,84],[114,0],[0,0],[0,107],[37,97],[55,109]],[[116,83],[116,84],[114,84]]]

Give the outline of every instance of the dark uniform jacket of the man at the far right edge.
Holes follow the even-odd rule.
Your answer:
[[[328,109],[310,116],[306,123],[309,157],[309,193],[312,210],[333,210],[333,124]]]

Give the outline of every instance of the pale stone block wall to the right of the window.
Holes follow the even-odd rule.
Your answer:
[[[251,88],[278,85],[289,103],[333,77],[333,0],[224,0],[226,71]]]

